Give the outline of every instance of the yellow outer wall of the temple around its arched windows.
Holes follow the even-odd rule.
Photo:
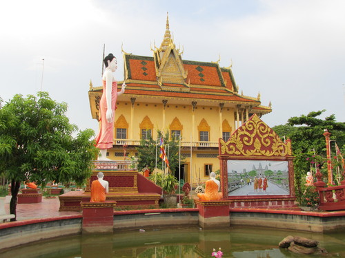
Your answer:
[[[230,127],[232,127],[232,132],[235,129],[235,110],[232,108],[224,108],[221,113],[221,120],[219,117],[220,109],[219,107],[208,107],[208,106],[198,106],[195,109],[195,127],[192,127],[192,117],[193,117],[193,108],[192,105],[188,103],[188,105],[172,105],[167,103],[165,109],[165,124],[163,125],[163,118],[164,118],[164,106],[161,103],[161,100],[157,99],[157,103],[138,103],[135,102],[134,104],[134,112],[133,112],[133,125],[131,125],[131,108],[132,103],[130,102],[118,102],[117,103],[117,110],[115,112],[115,121],[119,118],[119,116],[123,115],[126,118],[126,122],[128,122],[128,133],[127,138],[130,139],[130,130],[132,130],[132,139],[130,140],[140,140],[141,129],[140,124],[144,120],[146,116],[150,118],[150,121],[153,124],[152,129],[152,136],[153,138],[157,138],[157,130],[160,131],[170,131],[170,125],[174,118],[178,118],[179,122],[183,126],[181,131],[182,142],[190,142],[190,135],[193,133],[195,138],[193,138],[193,142],[199,141],[199,131],[198,126],[202,119],[205,119],[210,127],[210,134],[209,134],[209,141],[210,142],[218,142],[218,139],[221,138],[221,126],[222,121],[224,119],[228,120]],[[116,137],[116,130],[115,130],[115,137]],[[123,156],[115,157],[115,152],[123,152],[123,150],[113,149],[108,150],[109,156],[108,158],[112,160],[123,160]],[[135,155],[134,148],[128,148],[129,155]],[[184,148],[185,153],[190,153],[188,147]],[[200,179],[201,182],[205,182],[208,180],[208,176],[204,173],[204,164],[212,164],[213,171],[219,169],[219,160],[218,158],[197,158],[197,155],[201,154],[212,154],[213,156],[217,155],[218,148],[210,148],[206,150],[197,150],[193,149],[192,154],[192,163],[190,164],[190,158],[185,158],[184,163],[188,163],[188,182],[190,182],[193,186],[196,186],[197,179]]]

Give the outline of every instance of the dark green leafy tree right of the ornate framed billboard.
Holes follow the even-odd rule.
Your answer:
[[[278,125],[273,130],[282,138],[290,138],[293,149],[295,167],[295,186],[297,194],[301,193],[300,186],[304,183],[302,178],[306,171],[311,169],[310,160],[315,158],[315,154],[326,157],[326,143],[324,129],[328,129],[331,140],[336,140],[339,148],[344,149],[345,144],[345,122],[337,122],[335,116],[331,115],[324,119],[317,118],[325,110],[313,111],[307,115],[292,117],[286,125]],[[334,151],[334,150],[332,150]],[[326,174],[325,159],[317,162],[319,169],[323,169]]]

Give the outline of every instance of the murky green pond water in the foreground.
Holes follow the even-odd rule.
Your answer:
[[[142,231],[142,230],[141,230]],[[288,235],[319,241],[328,255],[295,255],[278,248]],[[213,248],[221,248],[225,257],[345,257],[345,233],[303,233],[266,228],[145,228],[145,232],[128,230],[113,235],[76,235],[40,241],[0,251],[1,258],[175,258],[211,257]]]

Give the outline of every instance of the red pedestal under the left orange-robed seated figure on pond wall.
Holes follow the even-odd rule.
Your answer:
[[[83,234],[112,233],[116,202],[81,202],[83,209]]]

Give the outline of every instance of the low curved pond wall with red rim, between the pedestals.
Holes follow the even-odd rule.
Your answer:
[[[345,229],[345,211],[306,212],[230,208],[230,225],[327,233]],[[0,249],[33,241],[81,234],[82,215],[30,219],[0,224]],[[198,226],[198,208],[115,211],[114,230]]]

